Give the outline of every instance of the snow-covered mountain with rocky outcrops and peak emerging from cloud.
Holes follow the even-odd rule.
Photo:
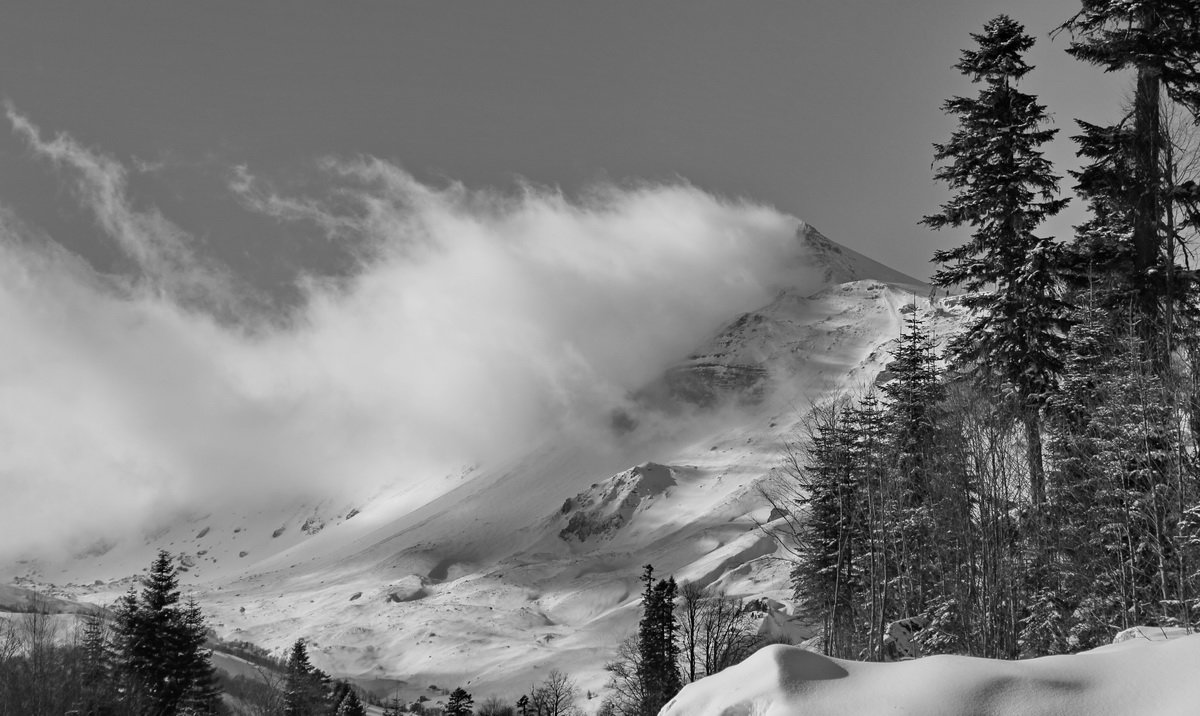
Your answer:
[[[781,445],[811,404],[876,379],[906,312],[940,332],[959,320],[920,282],[810,227],[798,240],[822,288],[731,317],[631,396],[602,440],[547,435],[503,464],[370,499],[163,516],[142,542],[7,577],[104,603],[162,547],[184,555],[186,589],[220,636],[277,651],[305,637],[336,675],[510,696],[559,668],[600,691],[636,627],[644,564],[786,600],[787,565],[757,527]]]

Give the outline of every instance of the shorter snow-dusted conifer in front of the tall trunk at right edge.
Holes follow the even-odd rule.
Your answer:
[[[1194,467],[1130,311],[1115,320],[1087,294],[1069,336],[1051,403],[1052,579],[1034,595],[1022,637],[1038,652],[1097,646],[1139,624],[1190,621],[1192,549],[1180,530]]]

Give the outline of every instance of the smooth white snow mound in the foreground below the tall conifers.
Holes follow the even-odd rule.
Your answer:
[[[660,716],[1195,716],[1200,634],[1072,656],[896,663],[774,645],[684,687]]]

